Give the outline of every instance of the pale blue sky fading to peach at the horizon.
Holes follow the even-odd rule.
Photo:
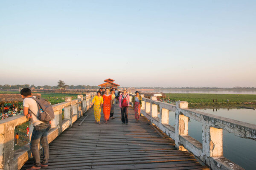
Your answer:
[[[256,86],[255,0],[0,1],[0,84]]]

